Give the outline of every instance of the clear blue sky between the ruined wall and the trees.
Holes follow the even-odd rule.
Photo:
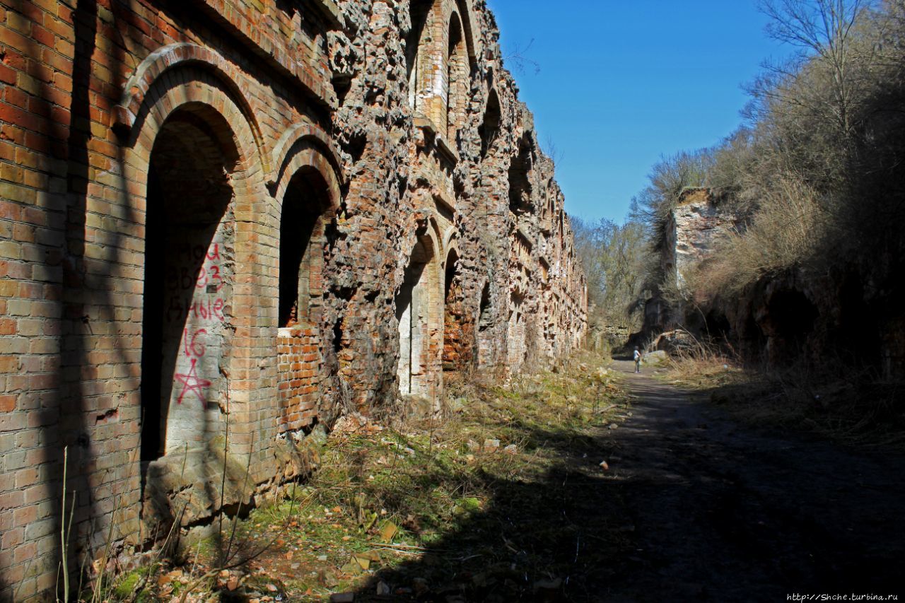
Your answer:
[[[742,119],[741,85],[790,49],[755,0],[488,0],[542,146],[560,156],[570,215],[622,222],[651,166],[710,147]]]

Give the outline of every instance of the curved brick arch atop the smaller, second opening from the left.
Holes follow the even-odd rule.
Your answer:
[[[291,178],[301,168],[314,168],[328,185],[330,207],[339,206],[339,187],[344,182],[342,164],[332,140],[319,127],[300,123],[287,129],[273,149],[272,165],[275,169],[269,184],[278,204],[282,203]]]

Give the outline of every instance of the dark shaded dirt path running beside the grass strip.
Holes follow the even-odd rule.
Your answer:
[[[605,600],[905,600],[905,464],[739,426],[650,374],[605,438],[634,553]],[[650,370],[650,369],[647,369]]]

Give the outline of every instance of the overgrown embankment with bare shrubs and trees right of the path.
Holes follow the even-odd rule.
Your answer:
[[[790,60],[737,131],[654,165],[624,225],[576,229],[589,298],[643,315],[632,345],[681,328],[882,396],[905,378],[905,2],[759,4]]]

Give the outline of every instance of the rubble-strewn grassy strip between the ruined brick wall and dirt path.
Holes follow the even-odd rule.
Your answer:
[[[111,598],[591,597],[628,547],[601,464],[627,397],[603,360],[447,388],[443,420],[344,417],[309,483]]]

